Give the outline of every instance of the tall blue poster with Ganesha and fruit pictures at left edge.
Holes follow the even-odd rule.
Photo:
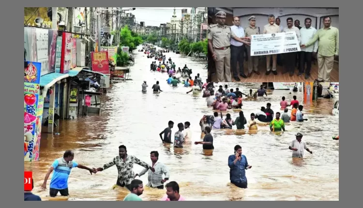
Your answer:
[[[31,161],[34,138],[37,137],[36,130],[41,125],[37,115],[38,108],[42,107],[39,102],[42,65],[39,62],[31,61],[25,61],[24,65],[24,161]]]

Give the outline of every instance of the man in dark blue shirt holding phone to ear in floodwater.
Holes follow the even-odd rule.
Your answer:
[[[229,179],[239,188],[247,188],[246,171],[252,166],[248,164],[246,156],[242,155],[242,147],[236,145],[234,154],[228,157]]]

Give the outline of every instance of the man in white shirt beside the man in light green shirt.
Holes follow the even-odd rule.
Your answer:
[[[301,44],[304,45],[309,40],[313,39],[314,35],[317,33],[317,29],[311,27],[311,19],[305,19],[305,27],[300,29],[301,33]],[[311,70],[311,61],[312,57],[317,56],[318,51],[318,43],[316,41],[314,45],[310,45],[309,47],[301,48],[300,52],[300,69],[299,69],[299,76],[304,74],[305,71],[305,79],[310,77],[310,70]],[[305,70],[305,61],[306,61],[306,70]]]

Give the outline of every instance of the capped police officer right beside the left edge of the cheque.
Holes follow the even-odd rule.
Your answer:
[[[250,16],[248,20],[250,21],[250,25],[244,28],[244,35],[249,38],[251,38],[252,35],[259,35],[259,27],[256,27],[256,17]],[[253,72],[259,75],[258,56],[251,56],[251,46],[247,45],[246,48],[247,48],[247,57],[248,57],[247,76],[250,77],[252,75],[252,70]]]

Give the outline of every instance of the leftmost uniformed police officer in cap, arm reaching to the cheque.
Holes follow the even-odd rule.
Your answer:
[[[218,82],[231,82],[231,70],[230,70],[230,39],[249,45],[249,43],[241,38],[225,25],[226,13],[217,12],[215,14],[217,24],[211,25],[208,28],[208,47],[212,51],[212,58],[215,61],[215,68],[217,72]]]

